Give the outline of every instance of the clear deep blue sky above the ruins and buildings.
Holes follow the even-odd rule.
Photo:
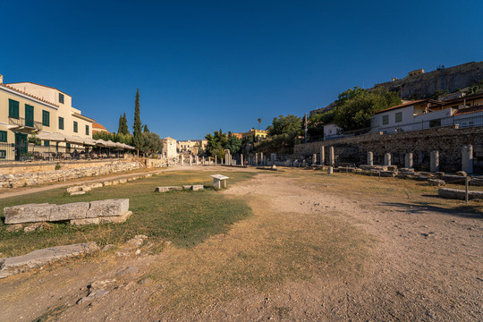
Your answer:
[[[353,86],[483,60],[483,2],[0,0],[4,82],[33,81],[117,131],[266,128]]]

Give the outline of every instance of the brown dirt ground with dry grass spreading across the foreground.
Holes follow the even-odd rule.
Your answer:
[[[481,214],[293,174],[223,191],[254,216],[194,249],[126,245],[0,280],[0,320],[483,319]],[[92,290],[107,293],[76,304]]]

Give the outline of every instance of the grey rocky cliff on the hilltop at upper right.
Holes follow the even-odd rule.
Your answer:
[[[431,97],[438,89],[454,92],[480,80],[483,80],[483,62],[473,62],[386,81],[376,84],[374,89],[385,87],[398,90],[402,99],[419,99]]]

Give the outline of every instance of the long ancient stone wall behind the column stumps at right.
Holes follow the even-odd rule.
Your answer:
[[[318,154],[320,147],[333,146],[336,163],[366,164],[367,152],[374,153],[374,163],[382,165],[384,154],[392,153],[392,164],[404,164],[404,155],[413,153],[414,166],[420,170],[429,169],[430,151],[439,151],[441,171],[455,172],[462,167],[462,147],[473,146],[474,172],[483,173],[483,128],[457,129],[441,127],[436,129],[408,131],[380,135],[365,134],[352,138],[326,140],[296,145],[294,155],[311,157]],[[326,162],[328,153],[326,150]]]

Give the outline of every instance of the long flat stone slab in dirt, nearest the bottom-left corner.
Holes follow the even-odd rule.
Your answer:
[[[31,268],[42,267],[48,263],[85,255],[99,250],[96,242],[51,247],[34,250],[29,254],[13,258],[0,258],[0,278],[16,275]]]

